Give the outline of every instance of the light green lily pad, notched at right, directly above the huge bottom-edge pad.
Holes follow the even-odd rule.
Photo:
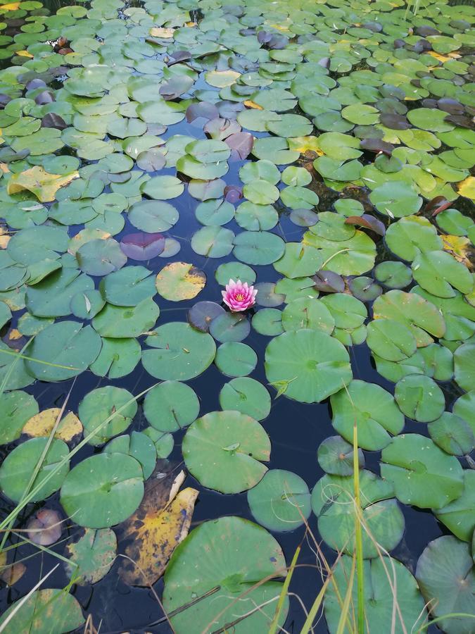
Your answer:
[[[182,443],[186,468],[203,486],[239,493],[267,471],[270,440],[262,426],[237,411],[214,411],[192,423]]]

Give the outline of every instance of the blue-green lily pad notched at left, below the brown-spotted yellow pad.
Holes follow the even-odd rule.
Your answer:
[[[213,337],[181,322],[159,326],[145,343],[150,348],[142,353],[144,368],[161,380],[194,378],[213,363],[216,353]]]

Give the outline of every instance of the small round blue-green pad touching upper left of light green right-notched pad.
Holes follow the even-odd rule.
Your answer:
[[[200,402],[196,392],[179,381],[164,381],[146,393],[144,415],[153,428],[175,432],[198,418]]]

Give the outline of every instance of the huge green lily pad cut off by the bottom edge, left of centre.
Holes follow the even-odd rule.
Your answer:
[[[213,559],[203,557],[203,552],[208,551],[213,551]],[[171,617],[176,632],[202,630],[210,621],[219,629],[235,619],[240,619],[237,631],[263,632],[274,616],[282,584],[266,580],[252,589],[251,586],[284,574],[285,566],[281,547],[265,528],[235,516],[204,522],[191,531],[170,559],[163,605],[170,614],[191,604]],[[243,587],[249,583],[248,594],[241,597]],[[211,592],[214,588],[225,591]],[[196,597],[203,599],[194,602]],[[262,608],[255,610],[255,605]],[[278,626],[284,624],[288,609],[285,600]]]

